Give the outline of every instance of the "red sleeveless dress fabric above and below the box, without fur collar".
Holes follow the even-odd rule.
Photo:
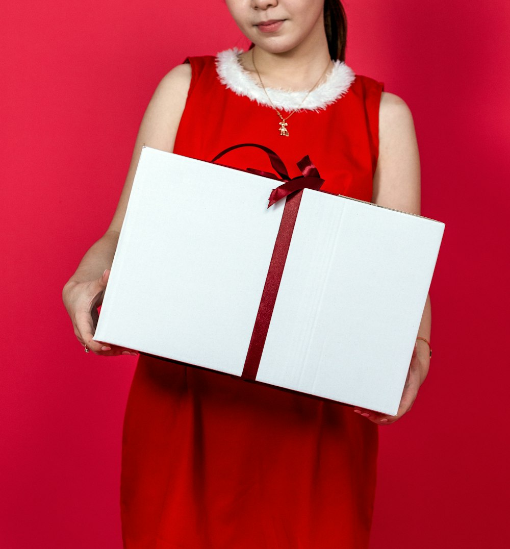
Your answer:
[[[272,108],[218,80],[214,57],[189,61],[175,153],[210,160],[260,143],[291,176],[308,154],[324,190],[371,200],[380,83],[356,76],[325,109],[295,113],[282,137]],[[272,171],[258,149],[221,162]],[[122,444],[125,547],[366,549],[377,441],[350,407],[141,356]]]

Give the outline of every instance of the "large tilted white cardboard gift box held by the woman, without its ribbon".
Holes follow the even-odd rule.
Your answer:
[[[242,376],[277,184],[144,147],[94,339]],[[304,189],[256,381],[395,414],[443,231]]]

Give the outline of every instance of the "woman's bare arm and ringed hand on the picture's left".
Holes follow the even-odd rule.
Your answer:
[[[63,300],[76,337],[82,345],[101,355],[129,354],[131,351],[92,340],[97,323],[97,307],[107,286],[109,269],[131,193],[134,173],[144,144],[172,152],[191,81],[190,65],[171,70],[154,92],[145,111],[134,145],[126,183],[107,232],[87,251],[74,275],[63,289]]]

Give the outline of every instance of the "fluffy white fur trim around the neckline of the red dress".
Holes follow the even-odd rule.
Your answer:
[[[231,89],[238,96],[249,97],[259,105],[271,107],[271,103],[259,86],[248,74],[239,62],[238,55],[242,50],[238,48],[226,49],[216,56],[216,72],[220,82]],[[266,88],[271,101],[277,109],[291,110],[315,110],[325,109],[337,99],[344,96],[356,75],[354,71],[342,61],[335,61],[326,82],[317,86],[301,104],[306,91],[289,91],[285,89]]]

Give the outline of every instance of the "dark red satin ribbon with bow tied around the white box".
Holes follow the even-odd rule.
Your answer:
[[[216,155],[211,162],[215,162],[224,154],[240,147],[256,147],[264,150],[269,156],[274,171],[278,173],[280,178],[274,175],[274,173],[255,170],[253,168],[248,168],[246,171],[283,181],[279,187],[276,187],[276,189],[271,191],[267,207],[270,208],[270,206],[275,204],[278,200],[286,197],[282,220],[274,242],[273,254],[267,271],[264,289],[262,290],[259,310],[257,311],[257,316],[255,318],[250,345],[248,346],[248,352],[246,353],[246,360],[241,376],[243,379],[254,381],[257,377],[262,351],[264,350],[264,345],[266,343],[267,332],[273,315],[274,303],[276,302],[278,288],[282,280],[283,268],[285,267],[285,261],[287,261],[290,241],[292,240],[292,233],[294,232],[294,226],[298,217],[302,189],[307,188],[318,191],[324,183],[324,180],[321,179],[317,168],[313,165],[309,156],[305,156],[298,162],[298,167],[301,170],[302,175],[290,179],[282,159],[271,149],[256,143],[233,145],[233,147],[229,147]]]

